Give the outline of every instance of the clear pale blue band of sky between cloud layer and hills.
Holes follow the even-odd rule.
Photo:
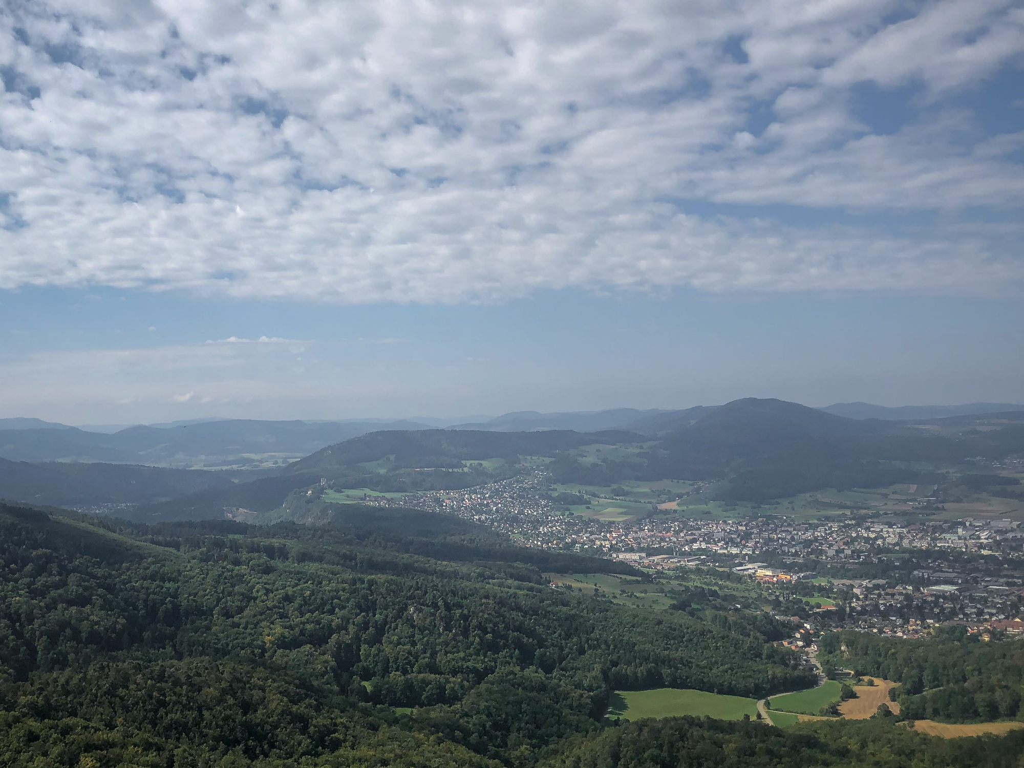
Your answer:
[[[3,295],[0,325],[7,415],[66,423],[1024,401],[1024,307],[1008,299],[566,290],[339,306],[29,289]]]

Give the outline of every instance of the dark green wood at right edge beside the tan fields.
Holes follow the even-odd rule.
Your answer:
[[[981,642],[963,627],[903,640],[837,632],[818,643],[819,658],[900,683],[901,716],[969,723],[1024,719],[1024,639]]]

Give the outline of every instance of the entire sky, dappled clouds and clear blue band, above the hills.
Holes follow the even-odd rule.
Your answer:
[[[0,6],[0,417],[1024,402],[1024,8]]]

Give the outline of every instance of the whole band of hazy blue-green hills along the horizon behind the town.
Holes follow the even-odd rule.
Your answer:
[[[630,428],[585,429],[615,422]],[[579,428],[546,428],[565,423]],[[897,421],[745,398],[686,411],[527,412],[493,420],[493,428],[466,426],[223,420],[112,435],[3,430],[0,459],[11,460],[0,462],[0,497],[80,509],[134,505],[148,520],[211,518],[230,510],[268,514],[325,482],[419,493],[543,466],[556,483],[699,480],[716,483],[723,500],[765,502],[823,487],[916,482],[970,457],[1024,452],[1024,411]],[[181,469],[188,466],[207,469]]]

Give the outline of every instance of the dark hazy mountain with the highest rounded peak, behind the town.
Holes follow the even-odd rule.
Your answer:
[[[596,485],[663,478],[720,480],[723,499],[765,501],[825,487],[916,482],[922,464],[950,466],[968,457],[1004,458],[1024,451],[1022,425],[1008,422],[986,431],[968,425],[946,431],[744,398],[663,435],[633,460],[593,464],[563,456],[549,469],[559,482]]]

